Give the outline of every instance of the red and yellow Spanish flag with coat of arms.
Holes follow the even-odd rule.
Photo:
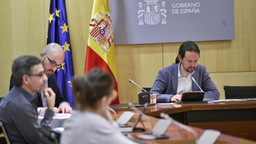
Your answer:
[[[94,0],[93,2],[84,74],[94,67],[100,67],[113,76],[115,90],[118,92],[113,29],[108,0]],[[117,97],[111,105],[118,103]]]

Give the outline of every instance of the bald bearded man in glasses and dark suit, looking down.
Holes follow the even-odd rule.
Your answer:
[[[69,103],[63,98],[55,75],[55,71],[58,68],[61,68],[61,63],[65,59],[65,53],[62,47],[57,43],[51,43],[45,46],[43,52],[39,56],[42,61],[43,67],[45,69],[45,74],[48,77],[48,80],[45,82],[45,88],[51,87],[53,92],[56,94],[55,97],[55,106],[53,111],[55,113],[71,113],[72,108]],[[10,90],[13,87],[13,78],[10,79]],[[47,109],[47,103],[43,93],[37,93],[37,111],[38,115],[44,116],[45,110]]]

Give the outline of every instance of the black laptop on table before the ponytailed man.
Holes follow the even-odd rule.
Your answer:
[[[204,100],[204,92],[201,91],[191,91],[183,92],[181,96],[181,101],[175,103],[207,103]]]

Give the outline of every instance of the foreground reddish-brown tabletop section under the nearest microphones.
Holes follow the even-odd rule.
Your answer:
[[[135,118],[137,116],[138,116],[138,114],[135,113],[134,118],[132,118],[130,121],[130,124],[132,124],[135,121]],[[154,125],[159,120],[159,118],[156,118],[156,117],[150,117],[150,118],[152,119]],[[165,132],[165,135],[167,137],[169,137],[167,139],[157,139],[157,140],[139,139],[136,137],[136,135],[151,132],[151,126],[150,126],[151,123],[148,121],[148,119],[142,116],[142,121],[143,121],[145,127],[147,128],[146,132],[132,132],[132,133],[128,133],[126,135],[126,137],[140,141],[140,142],[144,142],[144,143],[163,143],[163,144],[164,143],[184,143],[184,144],[185,143],[186,144],[196,143],[194,134],[182,129],[181,126],[175,125],[173,123],[169,126],[169,128]],[[138,127],[142,127],[141,123],[138,123]],[[190,126],[190,128],[196,132],[198,138],[201,137],[202,133],[205,131],[204,129],[200,129],[200,128],[194,127],[194,126]],[[246,143],[246,144],[250,144],[250,143],[256,143],[256,141],[238,138],[238,137],[234,137],[231,135],[221,133],[220,137],[217,139],[217,141],[215,141],[215,144],[216,143]]]

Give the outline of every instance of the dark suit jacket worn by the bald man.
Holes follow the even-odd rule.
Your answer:
[[[14,86],[13,77],[11,76],[11,78],[10,78],[10,88],[9,88],[9,91],[11,91],[11,89],[12,89],[13,86]],[[57,78],[56,78],[55,73],[53,73],[53,74],[48,78],[48,87],[51,87],[51,89],[53,90],[53,92],[54,92],[55,95],[56,95],[56,98],[55,98],[55,107],[58,108],[58,107],[60,106],[60,103],[66,102],[65,99],[63,98],[61,92],[60,92],[60,88],[59,88],[59,86],[58,86]],[[38,95],[38,98],[37,98],[37,107],[43,107],[42,95],[41,95],[41,93],[37,93],[37,95]]]

